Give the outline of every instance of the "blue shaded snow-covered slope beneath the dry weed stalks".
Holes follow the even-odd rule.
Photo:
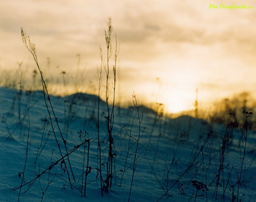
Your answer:
[[[256,201],[255,132],[247,133],[244,156],[246,130],[209,124],[186,115],[171,119],[145,107],[139,109],[142,119],[139,124],[134,106],[115,108],[112,186],[101,196],[98,98],[78,93],[64,98],[51,96],[51,102],[60,131],[67,141],[67,151],[74,150],[69,159],[76,182],[69,164],[65,167],[61,162],[60,150],[63,156],[67,153],[49,107],[60,145],[58,149],[43,92],[21,93],[0,88],[1,202],[122,202],[128,201],[130,190],[130,201],[136,202],[159,199],[179,202]],[[106,104],[100,101],[99,136],[104,181],[109,146],[106,121]],[[90,139],[88,166],[91,172],[87,172],[84,197],[88,142],[79,148],[77,145],[85,139]],[[20,185],[23,186],[20,188]],[[238,200],[235,199],[237,195]]]

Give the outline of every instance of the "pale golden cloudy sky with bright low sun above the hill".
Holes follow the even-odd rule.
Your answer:
[[[193,108],[196,89],[202,107],[245,90],[256,95],[253,0],[2,0],[0,4],[0,69],[17,69],[20,62],[30,68],[28,72],[35,69],[21,40],[22,27],[35,43],[40,65],[50,61],[49,73],[84,70],[96,86],[99,47],[105,56],[104,30],[111,17],[119,44],[116,85],[122,102],[135,92],[140,103],[162,103],[167,111],[179,112]],[[223,4],[252,8],[225,9]]]

